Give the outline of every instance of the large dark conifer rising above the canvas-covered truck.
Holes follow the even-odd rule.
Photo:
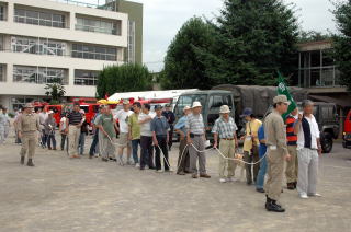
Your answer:
[[[216,43],[199,50],[216,84],[276,84],[276,70],[296,68],[298,25],[281,0],[225,0],[212,23]]]

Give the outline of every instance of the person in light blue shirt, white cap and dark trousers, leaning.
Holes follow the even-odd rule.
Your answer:
[[[191,114],[191,107],[186,105],[183,108],[183,113],[184,115],[181,118],[179,118],[178,123],[174,126],[176,132],[178,132],[180,136],[178,170],[177,170],[178,175],[185,175],[185,173],[190,173],[190,158],[189,158],[189,147],[186,147],[185,123],[186,123],[188,115]]]

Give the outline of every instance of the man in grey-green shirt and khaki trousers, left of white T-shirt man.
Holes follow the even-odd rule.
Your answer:
[[[113,119],[111,111],[109,106],[104,105],[101,108],[101,116],[97,121],[97,127],[102,135],[101,144],[99,144],[101,152],[101,160],[107,162],[111,158],[115,158],[115,140],[116,140],[116,131],[117,128],[116,121]]]

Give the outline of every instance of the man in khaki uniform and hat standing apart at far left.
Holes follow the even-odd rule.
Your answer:
[[[25,154],[29,153],[29,166],[34,166],[33,158],[36,147],[36,131],[41,130],[39,118],[33,113],[34,106],[31,103],[26,103],[22,115],[18,119],[18,132],[19,138],[22,140],[21,149],[21,164],[24,164]]]

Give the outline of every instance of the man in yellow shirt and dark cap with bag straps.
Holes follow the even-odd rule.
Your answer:
[[[251,108],[245,108],[241,117],[246,120],[246,130],[245,136],[241,137],[241,140],[244,139],[244,160],[248,163],[258,162],[260,160],[259,158],[259,144],[260,141],[258,139],[258,131],[260,126],[262,125],[262,121],[257,119],[256,116],[252,113]],[[245,164],[246,167],[246,181],[248,185],[256,183],[257,175],[260,170],[260,164],[257,163],[253,165],[253,176],[252,176],[252,165],[251,164]]]

